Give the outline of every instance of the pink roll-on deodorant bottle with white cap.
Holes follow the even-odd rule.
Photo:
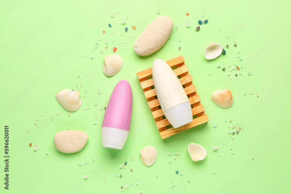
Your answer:
[[[114,87],[102,123],[103,147],[122,149],[129,134],[132,90],[126,80]]]

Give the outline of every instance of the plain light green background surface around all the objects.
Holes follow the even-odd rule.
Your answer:
[[[4,149],[4,125],[9,125],[10,185],[9,191],[3,188],[1,159],[0,193],[122,193],[120,186],[130,182],[133,185],[123,193],[140,190],[143,193],[290,193],[290,6],[290,1],[267,0],[2,1],[0,150]],[[161,13],[157,14],[159,9]],[[189,16],[185,15],[187,12]],[[115,13],[114,18],[110,17],[111,13]],[[159,15],[171,17],[179,29],[172,32],[171,39],[156,53],[138,56],[133,49],[136,38]],[[126,23],[121,24],[126,16]],[[201,30],[196,32],[198,19],[209,22],[200,25]],[[185,27],[186,20],[191,22],[189,28]],[[127,33],[125,27],[129,29]],[[233,46],[234,41],[237,47]],[[97,49],[95,42],[100,42]],[[206,60],[203,51],[210,42],[228,44],[226,55]],[[22,49],[20,43],[25,44]],[[62,55],[66,47],[69,51]],[[123,58],[123,67],[115,76],[107,77],[102,64],[104,56],[113,54],[113,47],[118,47],[116,54]],[[162,140],[136,72],[150,67],[156,58],[169,60],[180,55],[184,56],[209,122]],[[237,55],[243,60],[239,61]],[[56,62],[57,56],[61,58]],[[228,65],[234,67],[234,63],[244,68],[230,72]],[[218,68],[217,64],[221,66]],[[223,67],[225,72],[221,71]],[[248,70],[251,75],[246,73]],[[77,78],[81,72],[84,74]],[[239,72],[242,75],[235,77]],[[128,80],[132,86],[130,134],[133,137],[127,139],[122,150],[116,151],[102,147],[104,111],[100,109],[107,105],[121,79]],[[65,88],[76,89],[81,83],[81,108],[68,116],[55,94]],[[228,109],[216,106],[210,99],[212,92],[224,88],[229,88],[234,97],[234,104]],[[102,90],[101,94],[98,89]],[[84,90],[88,93],[82,97]],[[260,96],[256,97],[256,93]],[[17,98],[19,95],[21,98]],[[83,110],[88,106],[89,110]],[[52,116],[53,121],[47,120]],[[95,116],[99,118],[96,120]],[[233,120],[231,123],[224,122],[229,118]],[[227,126],[237,122],[244,131],[235,134],[232,140]],[[214,123],[216,128],[212,127]],[[54,147],[54,134],[67,127],[89,135],[84,149],[74,157]],[[39,149],[34,151],[29,143],[38,143]],[[207,156],[203,161],[190,159],[189,143],[205,147]],[[154,146],[158,152],[158,159],[151,167],[140,161],[139,152],[147,145]],[[214,152],[213,146],[219,149]],[[181,153],[176,160],[167,154],[172,151]],[[4,150],[0,157],[3,155]],[[88,165],[84,165],[86,161]],[[126,161],[126,168],[119,169]],[[83,165],[79,166],[78,162]],[[183,175],[177,175],[176,170]],[[116,173],[123,177],[116,177]],[[85,180],[84,175],[90,179]],[[171,180],[176,184],[174,187]]]

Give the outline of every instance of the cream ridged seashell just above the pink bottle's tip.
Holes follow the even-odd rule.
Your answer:
[[[122,64],[123,60],[119,55],[107,55],[104,57],[103,73],[106,76],[113,76],[120,71]]]

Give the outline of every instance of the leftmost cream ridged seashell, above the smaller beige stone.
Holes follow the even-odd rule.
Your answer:
[[[80,93],[75,90],[61,90],[56,94],[56,99],[69,112],[77,111],[82,104]]]

